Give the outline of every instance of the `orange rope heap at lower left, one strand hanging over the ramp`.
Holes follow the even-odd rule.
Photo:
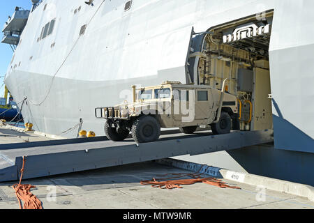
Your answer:
[[[22,185],[22,177],[24,172],[24,164],[25,164],[25,157],[23,157],[23,165],[21,169],[21,178],[20,183],[13,185],[13,189],[15,190],[15,196],[17,201],[19,201],[20,209],[43,209],[41,205],[41,201],[31,193],[32,188],[36,188],[32,185],[25,184]],[[22,208],[22,201],[24,201],[24,206]]]

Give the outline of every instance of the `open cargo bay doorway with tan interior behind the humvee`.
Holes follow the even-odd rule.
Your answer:
[[[269,43],[273,11],[195,33],[190,43],[188,79],[237,95],[239,130],[273,128]],[[194,74],[197,75],[194,75]]]

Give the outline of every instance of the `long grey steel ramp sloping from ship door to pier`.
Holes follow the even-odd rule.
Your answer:
[[[26,158],[23,179],[29,179],[266,144],[274,141],[272,134],[272,130],[215,136],[208,132],[167,134],[147,144],[135,144],[133,139],[114,142],[96,137],[0,145],[0,182],[19,180],[23,156]]]

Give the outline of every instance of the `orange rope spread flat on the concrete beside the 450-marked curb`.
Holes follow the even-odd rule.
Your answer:
[[[163,176],[172,175],[170,178],[153,178],[152,180],[143,180],[140,183],[142,185],[151,185],[151,187],[158,187],[160,189],[169,189],[172,190],[174,188],[183,188],[181,185],[193,185],[195,183],[206,183],[209,185],[214,185],[220,188],[232,188],[232,189],[241,189],[240,187],[232,187],[227,185],[227,183],[223,182],[223,180],[219,180],[216,178],[201,178],[200,174],[165,174]],[[181,179],[181,180],[170,180],[174,178],[183,178],[190,177],[193,179]]]

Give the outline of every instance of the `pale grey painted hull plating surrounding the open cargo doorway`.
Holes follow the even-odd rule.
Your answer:
[[[275,147],[309,152],[313,160],[314,1],[133,0],[127,12],[124,0],[100,6],[102,2],[95,0],[91,7],[84,1],[45,0],[31,13],[5,79],[15,100],[27,97],[25,121],[42,132],[60,134],[83,118],[85,130],[103,135],[103,121],[94,118],[95,107],[125,100],[133,84],[186,82],[192,26],[195,32],[207,31],[274,10],[269,61],[273,111],[278,117]],[[52,35],[37,42],[42,27],[54,18]],[[79,38],[84,24],[89,25]],[[15,64],[20,66],[14,68]],[[304,145],[294,145],[298,140],[294,130],[282,133],[285,123],[300,132]],[[232,160],[227,153],[223,156],[228,157],[220,157],[221,162]],[[243,170],[239,164],[237,169]]]

